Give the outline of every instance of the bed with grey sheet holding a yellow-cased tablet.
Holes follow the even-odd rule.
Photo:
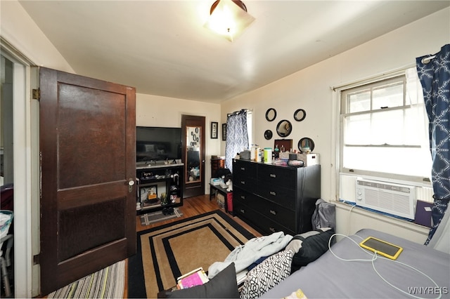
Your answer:
[[[358,244],[366,237],[376,237],[404,248],[396,261],[378,258],[376,270],[401,293],[383,281],[373,270],[371,262],[348,262],[345,259],[371,259],[350,239],[342,239],[321,258],[294,272],[280,284],[271,288],[261,298],[283,298],[301,288],[307,298],[450,298],[450,254],[394,237],[376,230],[360,230],[350,236]],[[399,262],[399,263],[397,263]],[[435,281],[401,265],[404,263],[422,271]]]

